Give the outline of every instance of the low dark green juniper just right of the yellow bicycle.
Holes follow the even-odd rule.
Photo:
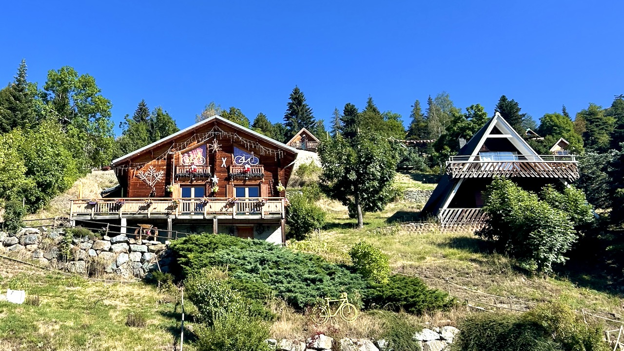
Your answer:
[[[373,283],[364,295],[369,309],[386,309],[413,314],[446,310],[454,301],[446,292],[429,289],[421,279],[395,274],[386,283]]]

